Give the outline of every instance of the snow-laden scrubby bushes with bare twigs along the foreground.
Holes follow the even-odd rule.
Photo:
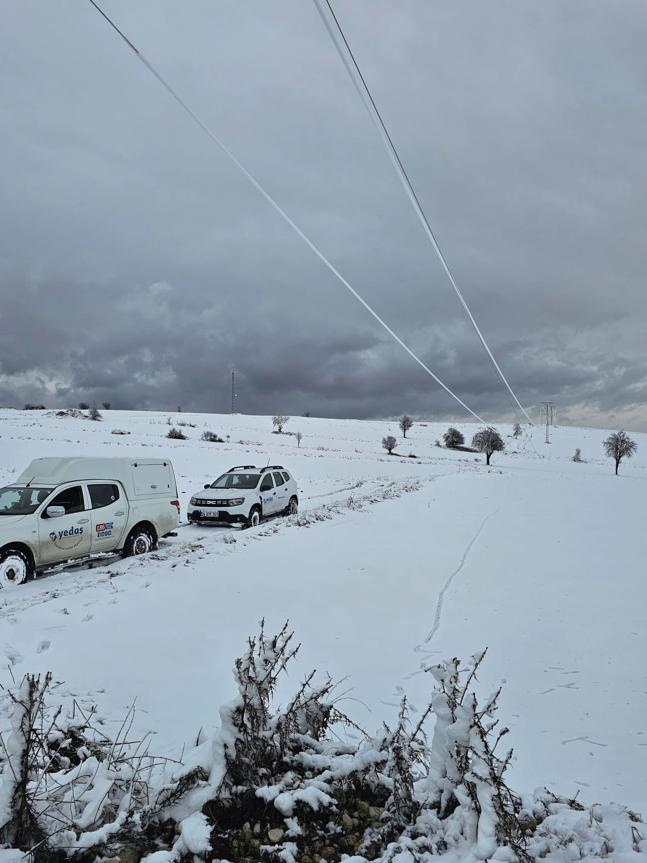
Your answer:
[[[395,727],[369,735],[340,711],[330,677],[311,672],[285,706],[274,702],[298,649],[287,624],[269,636],[261,622],[220,728],[198,734],[182,763],[129,741],[132,710],[110,740],[94,709],[77,704],[72,719],[47,706],[51,676],[25,677],[0,746],[0,841],[47,863],[124,846],[150,863],[644,863],[644,824],[628,809],[510,789],[500,690],[482,704],[474,692],[485,652],[425,669],[434,683],[416,725],[403,698]]]

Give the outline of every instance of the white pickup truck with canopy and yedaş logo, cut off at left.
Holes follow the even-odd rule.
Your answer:
[[[0,586],[101,552],[144,554],[178,525],[169,461],[35,458],[0,488]]]

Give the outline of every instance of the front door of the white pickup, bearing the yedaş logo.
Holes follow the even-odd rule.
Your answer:
[[[66,514],[50,519],[48,507],[63,507]],[[89,515],[80,485],[62,488],[46,501],[38,516],[39,567],[90,554]]]

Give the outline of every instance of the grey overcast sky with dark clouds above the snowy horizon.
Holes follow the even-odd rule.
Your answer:
[[[310,0],[103,8],[486,419],[506,395]],[[644,0],[335,0],[531,416],[647,430]],[[86,0],[5,0],[0,406],[464,419]]]

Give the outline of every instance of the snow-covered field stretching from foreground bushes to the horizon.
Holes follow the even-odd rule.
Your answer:
[[[182,526],[148,557],[3,589],[5,689],[53,671],[60,702],[96,703],[115,729],[136,698],[151,750],[178,755],[217,728],[234,659],[262,617],[271,631],[290,619],[303,673],[349,677],[356,701],[342,707],[369,731],[393,721],[403,691],[424,708],[421,666],[488,647],[482,694],[503,683],[512,787],[647,812],[644,435],[615,477],[606,432],[593,429],[555,428],[550,445],[543,428],[506,437],[487,468],[434,445],[447,423],[416,423],[403,441],[396,423],[293,418],[298,447],[268,417],[179,419],[196,424],[188,440],[166,439],[160,413],[110,411],[97,423],[2,410],[0,483],[35,457],[169,457],[184,520],[208,479],[269,459],[297,476],[300,513],[327,507],[330,518]],[[229,440],[205,444],[205,428]],[[476,426],[459,428],[471,438]],[[393,457],[380,447],[390,432]],[[570,460],[576,446],[587,463]],[[8,711],[0,692],[0,730]]]

